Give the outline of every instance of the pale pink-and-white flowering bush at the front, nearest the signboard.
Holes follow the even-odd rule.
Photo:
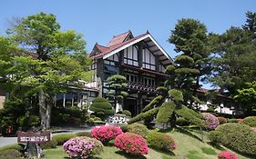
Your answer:
[[[63,144],[65,152],[70,158],[87,158],[103,151],[100,141],[89,137],[75,137]]]

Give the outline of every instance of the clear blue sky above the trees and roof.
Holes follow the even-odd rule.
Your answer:
[[[167,42],[180,18],[194,18],[209,32],[224,33],[231,25],[245,23],[246,11],[256,12],[253,0],[7,0],[0,5],[0,34],[8,20],[38,12],[56,15],[62,30],[74,29],[87,41],[87,52],[97,42],[107,45],[113,35],[147,30],[171,57],[177,55]]]

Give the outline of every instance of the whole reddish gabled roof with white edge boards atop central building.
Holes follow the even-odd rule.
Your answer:
[[[153,53],[154,55],[159,55],[159,62],[162,65],[173,64],[173,61],[167,54],[167,52],[164,51],[164,49],[157,43],[157,41],[152,37],[152,35],[148,33],[148,31],[146,34],[138,35],[135,37],[132,36],[130,31],[128,31],[124,34],[114,36],[113,39],[109,42],[109,44],[111,44],[110,46],[96,44],[93,48],[92,53],[89,56],[95,59],[106,59],[111,55],[117,54],[119,51],[127,48],[130,45],[134,45],[138,42],[143,41],[143,43],[148,46],[148,49],[151,51],[151,53]]]

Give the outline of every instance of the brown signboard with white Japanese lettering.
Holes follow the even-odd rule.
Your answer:
[[[51,140],[51,133],[18,132],[18,143],[45,143]]]

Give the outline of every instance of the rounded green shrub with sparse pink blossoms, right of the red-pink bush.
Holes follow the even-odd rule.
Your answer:
[[[147,142],[149,146],[160,150],[172,151],[176,148],[176,144],[169,134],[156,131],[149,131]]]

